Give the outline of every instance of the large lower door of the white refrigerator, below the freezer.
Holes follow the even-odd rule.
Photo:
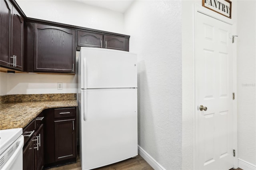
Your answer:
[[[89,170],[138,154],[137,89],[86,90],[81,165]],[[82,114],[83,115],[83,114]]]

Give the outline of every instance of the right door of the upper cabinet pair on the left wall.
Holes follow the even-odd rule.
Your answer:
[[[12,10],[12,56],[16,56],[16,69],[23,67],[23,40],[24,40],[24,20],[13,8]]]

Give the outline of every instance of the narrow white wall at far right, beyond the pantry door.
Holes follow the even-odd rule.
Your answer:
[[[256,167],[256,1],[238,1],[238,158]]]

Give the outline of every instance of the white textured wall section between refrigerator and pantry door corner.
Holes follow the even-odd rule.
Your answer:
[[[181,1],[134,1],[124,21],[138,54],[138,144],[166,170],[181,169]]]

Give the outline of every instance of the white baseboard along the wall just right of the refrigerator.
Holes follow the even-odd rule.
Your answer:
[[[166,170],[164,167],[162,167],[154,158],[152,158],[140,145],[138,145],[138,154],[154,168],[154,170]]]

